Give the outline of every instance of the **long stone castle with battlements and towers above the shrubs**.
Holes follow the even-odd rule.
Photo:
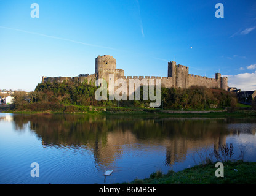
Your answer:
[[[188,73],[188,67],[176,64],[175,61],[168,62],[168,74],[167,77],[155,77],[155,76],[124,76],[124,70],[116,69],[116,59],[110,55],[98,56],[95,59],[95,73],[94,74],[80,74],[78,77],[42,77],[42,83],[47,82],[65,82],[65,81],[77,81],[81,83],[87,83],[94,85],[97,79],[105,79],[110,81],[114,76],[114,81],[123,79],[127,83],[129,79],[161,79],[162,87],[164,88],[188,88],[190,86],[206,86],[207,88],[222,88],[227,91],[228,89],[228,77],[221,77],[220,73],[215,74],[214,78],[202,77],[199,75],[193,75]]]

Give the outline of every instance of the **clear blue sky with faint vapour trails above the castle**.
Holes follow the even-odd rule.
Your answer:
[[[39,5],[39,18],[30,6]],[[215,17],[215,4],[224,18]],[[191,48],[192,47],[192,48]],[[47,77],[94,74],[112,55],[124,75],[167,76],[167,62],[190,74],[256,89],[255,1],[0,0],[0,89],[33,91]]]

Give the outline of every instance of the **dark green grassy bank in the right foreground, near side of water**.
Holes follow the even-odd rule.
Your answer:
[[[157,171],[150,178],[135,179],[132,184],[244,184],[256,183],[256,162],[223,162],[224,177],[215,176],[215,163],[196,165],[182,171]],[[235,171],[237,170],[237,171]]]

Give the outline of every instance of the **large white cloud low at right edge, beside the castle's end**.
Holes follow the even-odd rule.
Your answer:
[[[226,75],[228,77],[228,86],[241,88],[242,91],[256,90],[256,71],[254,73],[243,73],[237,75]]]

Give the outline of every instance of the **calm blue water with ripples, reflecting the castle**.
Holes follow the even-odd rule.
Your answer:
[[[122,183],[192,167],[225,143],[256,161],[255,132],[255,119],[0,113],[0,183]]]

